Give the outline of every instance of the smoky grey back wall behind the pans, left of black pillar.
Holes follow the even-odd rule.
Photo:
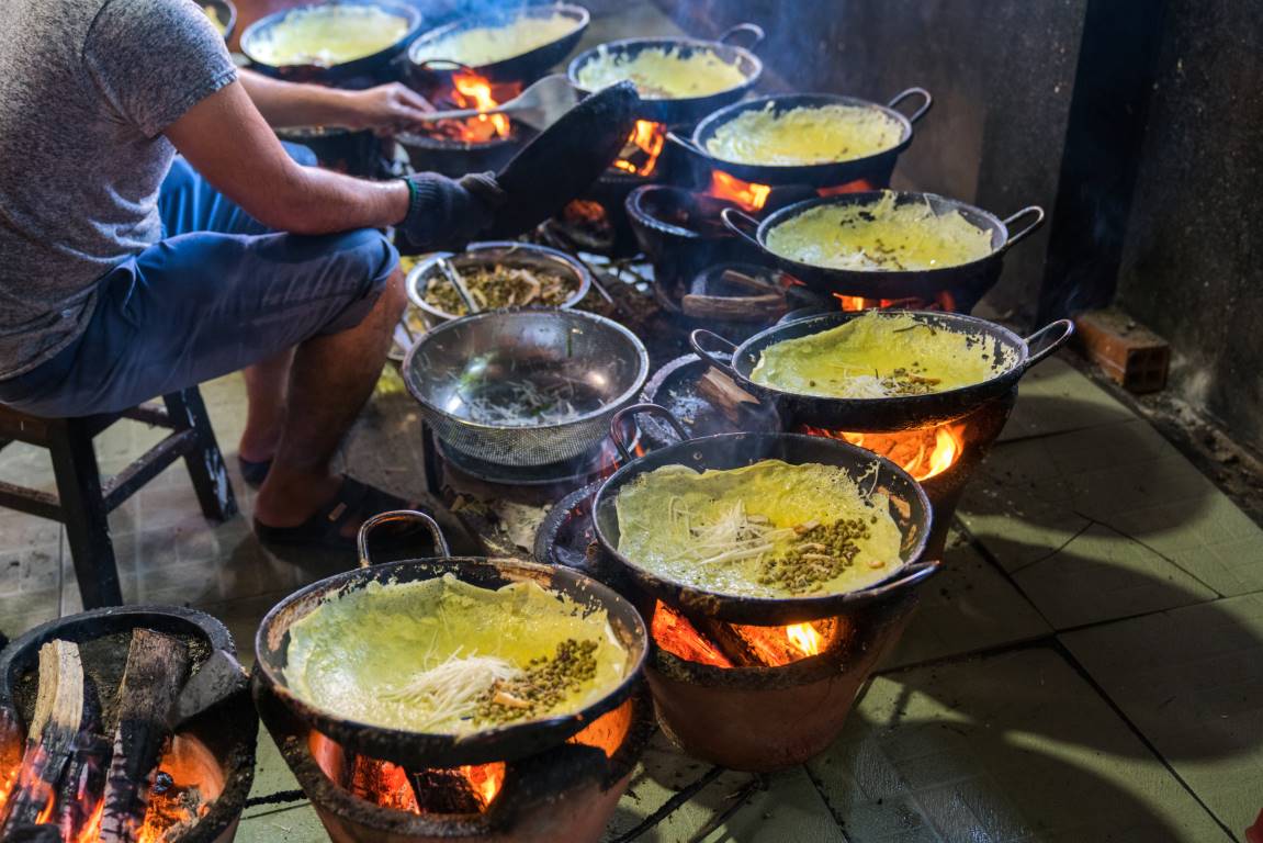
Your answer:
[[[1087,0],[659,0],[688,32],[741,20],[768,30],[758,49],[797,90],[888,100],[935,96],[895,185],[998,215],[1052,211]],[[1050,220],[1051,221],[1051,220]],[[1029,321],[1048,229],[1005,260],[989,303]]]

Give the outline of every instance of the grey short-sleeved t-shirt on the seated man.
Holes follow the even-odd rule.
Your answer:
[[[82,332],[93,282],[162,236],[162,133],[236,78],[192,0],[4,0],[0,379]]]

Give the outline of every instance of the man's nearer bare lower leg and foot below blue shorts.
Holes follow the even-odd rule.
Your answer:
[[[260,523],[298,526],[337,494],[341,479],[330,473],[330,461],[381,374],[407,303],[403,281],[395,269],[364,321],[312,337],[294,353],[280,445],[255,500]],[[357,526],[349,522],[347,530]]]

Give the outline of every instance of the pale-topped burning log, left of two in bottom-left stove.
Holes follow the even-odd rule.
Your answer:
[[[57,785],[75,753],[83,719],[83,664],[78,646],[51,641],[39,650],[39,686],[27,731],[18,780],[0,823],[0,839],[38,840],[32,827],[44,824],[54,806]],[[51,827],[56,832],[56,827]]]

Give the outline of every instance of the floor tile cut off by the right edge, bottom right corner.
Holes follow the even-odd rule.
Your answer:
[[[1263,594],[1063,641],[1194,792],[1243,833],[1263,809]]]

